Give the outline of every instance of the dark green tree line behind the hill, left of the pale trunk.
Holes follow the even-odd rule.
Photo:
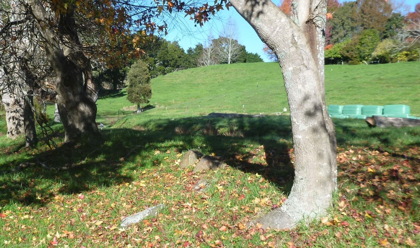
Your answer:
[[[226,57],[226,50],[228,49],[226,40],[226,37],[210,40],[210,46],[213,48],[210,60],[213,60],[213,63],[203,63],[203,58],[208,52],[208,45],[199,43],[194,48],[189,47],[185,51],[177,41],[170,42],[163,38],[154,37],[152,41],[144,44],[147,56],[144,56],[142,61],[149,66],[151,78],[181,69],[210,64],[263,62],[260,55],[248,53],[245,46],[240,45],[235,39],[230,41],[234,45],[234,53],[231,57]],[[207,43],[205,42],[205,44]],[[97,63],[93,66],[92,77],[98,85],[116,90],[124,87],[124,79],[126,79],[127,72],[135,61],[136,59],[128,60],[125,65],[115,66],[113,69],[108,69],[106,66]]]

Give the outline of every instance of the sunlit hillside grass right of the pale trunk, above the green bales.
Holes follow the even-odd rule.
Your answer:
[[[325,66],[327,104],[405,104],[420,115],[420,62]]]

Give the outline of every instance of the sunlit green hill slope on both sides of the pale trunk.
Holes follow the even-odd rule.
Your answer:
[[[420,115],[420,62],[325,66],[327,104],[406,104]],[[278,63],[239,63],[177,71],[152,79],[154,106],[142,118],[274,113],[289,108]],[[98,100],[98,117],[129,113],[122,90]],[[133,109],[134,110],[134,109]]]

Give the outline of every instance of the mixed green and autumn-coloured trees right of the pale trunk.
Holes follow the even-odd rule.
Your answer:
[[[279,5],[290,13],[291,0]],[[420,60],[420,3],[415,11],[398,1],[327,1],[325,64]],[[269,47],[264,52],[277,61]]]

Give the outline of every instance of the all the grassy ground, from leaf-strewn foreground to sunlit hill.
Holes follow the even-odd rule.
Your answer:
[[[326,66],[327,103],[407,104],[420,114],[419,68],[420,62]],[[0,136],[0,247],[420,244],[420,127],[369,128],[363,120],[334,119],[339,187],[332,207],[294,230],[247,228],[249,220],[281,206],[290,191],[288,111],[264,118],[203,116],[288,108],[278,65],[179,71],[153,79],[152,90],[154,108],[140,114],[129,110],[125,90],[98,100],[98,121],[107,126],[99,140],[63,145],[60,124],[51,124],[57,148],[40,143],[28,149],[23,137]],[[181,170],[188,149],[214,153],[228,167]],[[25,162],[34,164],[10,171]],[[71,169],[48,170],[40,162]],[[193,186],[202,178],[209,185],[197,192]],[[154,218],[118,227],[124,216],[160,203],[166,207]]]

